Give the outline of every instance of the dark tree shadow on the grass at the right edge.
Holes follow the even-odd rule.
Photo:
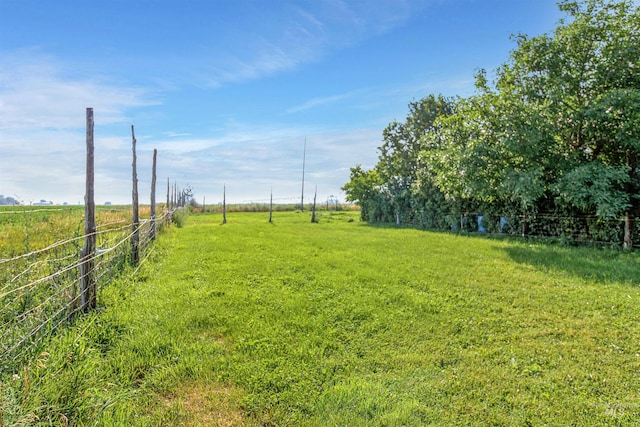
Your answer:
[[[640,285],[640,253],[616,249],[518,244],[502,248],[509,257],[543,271],[563,271],[585,280]]]

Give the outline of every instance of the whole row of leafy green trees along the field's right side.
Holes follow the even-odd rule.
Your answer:
[[[365,221],[620,242],[640,237],[640,10],[564,0],[463,98],[429,95],[343,186]]]

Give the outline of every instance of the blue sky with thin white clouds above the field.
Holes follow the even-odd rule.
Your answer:
[[[553,32],[555,0],[0,0],[0,194],[81,204],[86,108],[95,201],[171,185],[196,201],[344,200],[389,123],[469,96],[513,34]],[[305,142],[306,141],[306,142]],[[306,154],[305,154],[306,143]]]

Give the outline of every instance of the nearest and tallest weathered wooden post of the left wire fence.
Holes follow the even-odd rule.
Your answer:
[[[87,108],[87,172],[84,196],[84,246],[80,251],[81,309],[96,307],[97,291],[93,274],[96,252],[96,219],[94,199],[93,108]],[[74,296],[75,299],[75,296]],[[77,304],[74,302],[74,311]]]

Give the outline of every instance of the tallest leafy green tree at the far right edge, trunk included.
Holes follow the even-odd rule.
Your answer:
[[[499,88],[553,126],[560,202],[598,216],[623,214],[631,247],[640,209],[640,10],[630,0],[559,6],[570,22],[553,36],[519,36]]]

